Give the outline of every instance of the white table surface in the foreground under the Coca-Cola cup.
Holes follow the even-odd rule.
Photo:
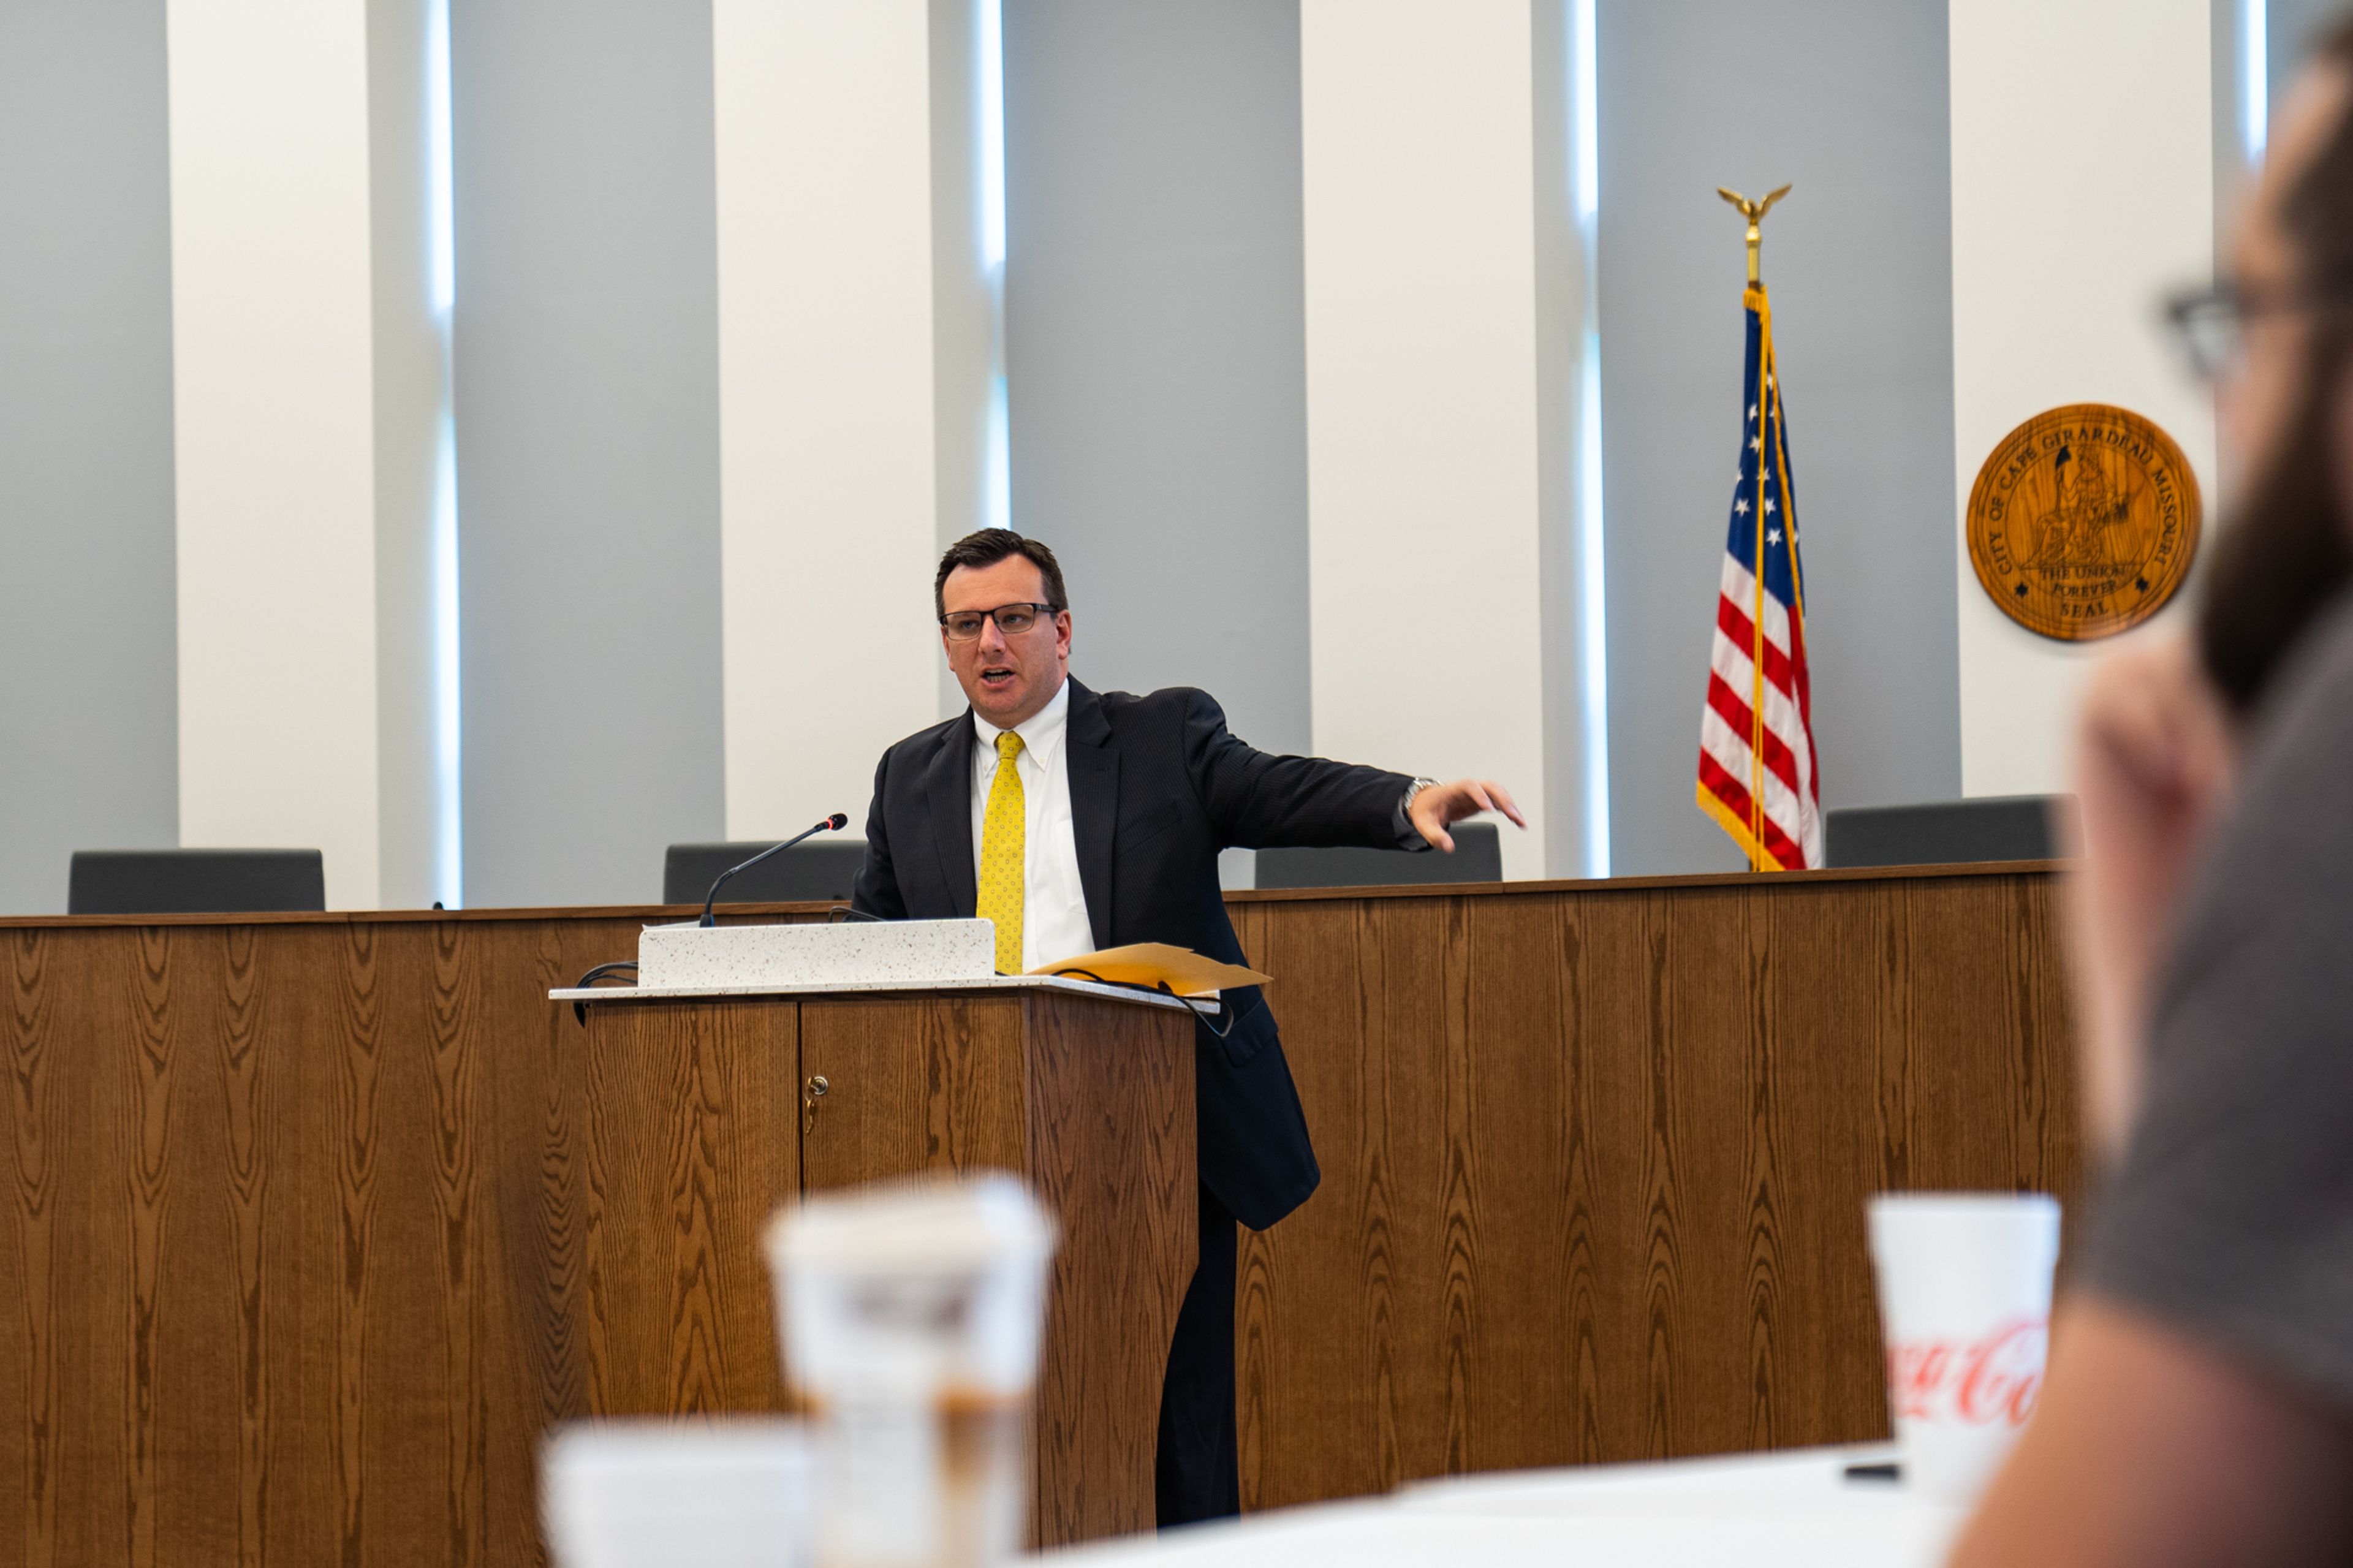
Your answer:
[[[1937,1568],[1962,1509],[1847,1481],[1887,1448],[1532,1469],[1254,1514],[1106,1547],[1061,1568]]]

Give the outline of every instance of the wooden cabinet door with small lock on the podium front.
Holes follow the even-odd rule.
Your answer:
[[[800,1003],[805,1191],[920,1170],[1021,1170],[1021,1003]]]

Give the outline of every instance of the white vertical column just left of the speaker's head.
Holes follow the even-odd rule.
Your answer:
[[[856,824],[882,749],[939,716],[932,570],[979,525],[991,339],[979,235],[934,250],[979,210],[934,26],[972,7],[713,0],[729,838]]]

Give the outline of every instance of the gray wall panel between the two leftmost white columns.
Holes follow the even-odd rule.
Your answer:
[[[466,902],[722,838],[711,7],[452,7]]]

